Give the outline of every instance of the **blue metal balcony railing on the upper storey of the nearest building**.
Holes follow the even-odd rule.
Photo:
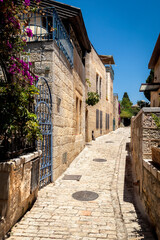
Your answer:
[[[39,9],[29,15],[28,28],[32,30],[33,36],[28,37],[28,42],[55,40],[62,50],[71,67],[73,67],[73,45],[67,31],[63,26],[55,8]],[[28,16],[23,15],[23,20]]]

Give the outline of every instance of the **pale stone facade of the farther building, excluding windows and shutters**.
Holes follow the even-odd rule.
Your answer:
[[[96,92],[96,75],[102,79],[101,81],[101,99],[95,106],[86,106],[86,141],[92,140],[92,131],[94,136],[99,137],[113,130],[113,102],[106,100],[107,96],[107,79],[105,66],[101,62],[99,56],[92,48],[91,52],[86,55],[86,79],[91,83],[91,87],[87,87],[87,92]],[[87,94],[86,94],[87,97]],[[102,128],[96,128],[96,110],[102,111]],[[106,129],[106,113],[110,114],[109,129]],[[99,116],[100,118],[100,116]]]

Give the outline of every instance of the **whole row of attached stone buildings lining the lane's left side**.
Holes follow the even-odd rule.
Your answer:
[[[113,130],[114,60],[91,46],[79,8],[42,1],[28,27],[33,36],[27,39],[27,51],[40,77],[36,113],[43,133],[38,144],[43,186],[65,171],[92,140],[92,132],[98,137]],[[100,95],[96,106],[86,107],[87,91]]]

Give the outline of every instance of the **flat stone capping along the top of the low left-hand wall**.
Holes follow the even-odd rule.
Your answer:
[[[42,154],[42,151],[35,151],[33,153],[28,153],[28,154],[24,154],[22,156],[20,156],[19,158],[13,158],[8,162],[2,162],[0,163],[0,171],[4,170],[7,172],[11,171],[11,168],[14,168],[16,166],[19,166],[21,164],[25,164],[37,157],[40,157]]]

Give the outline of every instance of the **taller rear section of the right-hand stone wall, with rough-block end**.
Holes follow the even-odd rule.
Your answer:
[[[160,108],[143,108],[131,121],[131,148],[137,180],[142,177],[142,160],[151,159],[151,148],[158,146],[160,138],[151,113],[160,114]]]

